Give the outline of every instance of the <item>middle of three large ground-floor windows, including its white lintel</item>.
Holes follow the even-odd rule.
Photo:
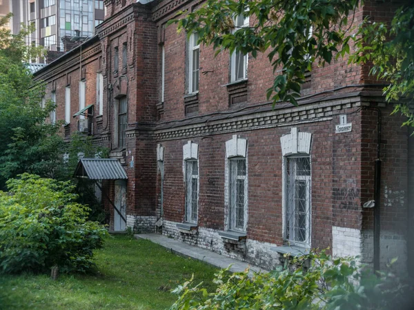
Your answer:
[[[226,141],[226,230],[246,231],[248,221],[247,141],[233,135]]]

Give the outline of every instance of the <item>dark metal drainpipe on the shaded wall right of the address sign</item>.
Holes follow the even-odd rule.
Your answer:
[[[374,183],[374,271],[380,270],[380,231],[381,231],[381,110],[377,107],[377,158],[375,159],[375,183]]]

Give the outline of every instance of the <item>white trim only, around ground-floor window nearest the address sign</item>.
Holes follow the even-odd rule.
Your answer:
[[[293,127],[290,130],[290,134],[285,134],[280,137],[280,143],[282,145],[282,236],[284,241],[292,242],[287,240],[286,236],[286,220],[287,220],[287,184],[286,180],[286,168],[287,168],[287,157],[300,158],[309,157],[309,163],[311,164],[311,176],[308,176],[310,180],[309,185],[309,217],[306,220],[308,225],[308,240],[309,242],[303,244],[301,242],[295,242],[291,245],[299,245],[305,247],[311,247],[312,244],[312,162],[311,162],[311,141],[312,134],[308,132],[297,132],[297,128]]]

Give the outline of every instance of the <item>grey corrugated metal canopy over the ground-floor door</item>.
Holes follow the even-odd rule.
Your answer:
[[[75,169],[75,176],[91,180],[124,180],[125,169],[115,158],[81,158]]]

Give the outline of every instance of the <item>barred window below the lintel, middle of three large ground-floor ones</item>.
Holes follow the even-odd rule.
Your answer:
[[[229,165],[229,203],[230,229],[246,229],[247,210],[247,170],[246,158],[230,158]]]

